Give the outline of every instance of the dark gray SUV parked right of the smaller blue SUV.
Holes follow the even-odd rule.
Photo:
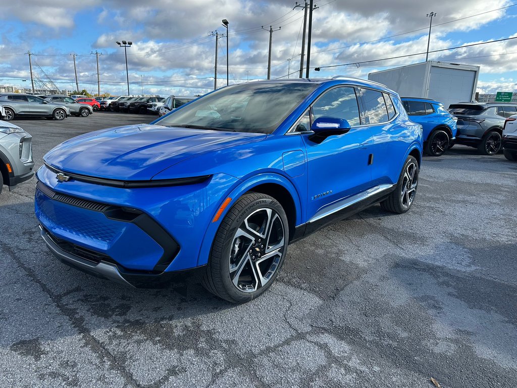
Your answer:
[[[483,155],[494,155],[501,149],[506,118],[517,114],[517,104],[511,102],[460,102],[449,106],[458,117],[455,144],[478,149]]]

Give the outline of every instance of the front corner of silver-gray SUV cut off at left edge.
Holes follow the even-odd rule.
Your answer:
[[[34,175],[32,136],[22,128],[0,121],[0,192]]]

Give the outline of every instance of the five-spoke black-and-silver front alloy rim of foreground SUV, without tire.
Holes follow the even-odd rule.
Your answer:
[[[284,253],[284,225],[278,213],[260,208],[242,221],[230,250],[229,271],[234,286],[254,292],[271,280]]]

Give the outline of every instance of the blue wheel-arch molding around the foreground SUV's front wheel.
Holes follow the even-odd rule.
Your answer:
[[[229,205],[226,206],[223,213],[219,217],[219,220],[216,222],[210,221],[205,236],[203,238],[203,242],[201,244],[201,248],[199,251],[199,256],[197,257],[197,265],[205,265],[208,263],[208,258],[210,256],[210,250],[212,248],[212,242],[214,242],[214,238],[217,234],[221,221],[224,219],[226,214],[230,211],[230,208],[237,202],[237,200],[244,195],[248,191],[253,191],[253,187],[272,183],[277,184],[285,188],[293,198],[293,202],[295,204],[295,212],[296,212],[296,225],[300,225],[301,222],[301,200],[298,191],[295,186],[289,181],[285,176],[274,173],[274,172],[265,172],[257,175],[253,175],[248,177],[245,181],[237,181],[236,185],[234,185],[227,193],[220,199],[220,203],[212,216],[212,220],[214,219],[217,211],[226,200],[226,198],[232,198],[232,201]]]

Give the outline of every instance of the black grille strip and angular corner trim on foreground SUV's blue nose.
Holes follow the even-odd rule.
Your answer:
[[[115,206],[106,203],[89,201],[82,198],[72,197],[63,193],[56,192],[40,181],[36,184],[36,189],[54,201],[63,202],[72,206],[104,214],[106,218],[130,222],[142,229],[163,249],[163,255],[153,268],[153,273],[162,273],[172,263],[179,252],[179,244],[174,240],[163,227],[147,213],[138,209]],[[117,263],[118,264],[118,263]],[[120,264],[118,264],[121,266]],[[133,272],[133,271],[131,271]]]

